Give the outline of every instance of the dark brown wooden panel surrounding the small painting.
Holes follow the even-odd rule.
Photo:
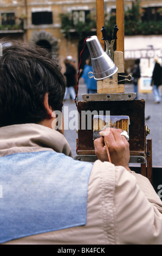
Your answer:
[[[82,129],[82,111],[90,111],[91,113],[96,110],[110,111],[110,115],[128,115],[130,119],[129,125],[129,149],[131,155],[144,155],[146,152],[146,133],[145,133],[145,101],[132,100],[132,101],[79,101],[78,112],[80,126],[78,130],[78,155],[92,155],[94,153],[93,144],[93,115],[92,129]],[[85,120],[87,123],[87,120]],[[87,125],[87,124],[86,124]]]

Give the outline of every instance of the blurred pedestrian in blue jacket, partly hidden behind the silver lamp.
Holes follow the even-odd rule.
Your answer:
[[[88,94],[89,93],[90,94],[98,93],[97,92],[97,81],[94,78],[89,78],[89,76],[88,76],[89,72],[93,72],[90,57],[88,59],[86,59],[86,64],[85,64],[85,67],[83,69],[82,78],[86,83]]]

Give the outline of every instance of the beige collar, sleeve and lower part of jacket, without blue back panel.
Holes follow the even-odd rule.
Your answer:
[[[1,157],[40,150],[55,150],[71,156],[64,136],[42,125],[23,124],[0,129]],[[147,178],[98,160],[89,178],[86,225],[6,244],[162,244],[161,213],[161,200]]]

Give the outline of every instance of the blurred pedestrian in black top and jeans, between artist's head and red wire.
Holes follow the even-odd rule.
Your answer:
[[[64,72],[63,75],[66,76],[67,81],[64,100],[67,100],[68,93],[72,97],[72,100],[75,99],[74,87],[76,83],[76,69],[74,68],[74,65],[71,64],[72,59],[69,56],[64,59],[64,64],[66,65],[66,72]]]

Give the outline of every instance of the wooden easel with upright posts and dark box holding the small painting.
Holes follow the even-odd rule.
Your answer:
[[[105,42],[102,40],[101,28],[104,26],[104,1],[96,0],[97,36],[103,50]],[[125,94],[125,84],[119,83],[119,74],[123,74],[124,69],[124,1],[116,0],[116,24],[119,28],[118,39],[116,41],[116,52],[114,52],[114,63],[118,67],[118,72],[111,80],[98,81],[98,94],[82,95],[84,101],[77,102],[78,111],[81,112],[111,110],[111,115],[128,115],[131,120],[129,129],[129,147],[131,159],[141,163],[140,173],[152,182],[152,140],[147,139],[145,126],[145,101],[134,100],[134,94]],[[122,99],[121,99],[122,98]],[[138,123],[137,123],[138,120]],[[76,160],[95,161],[93,129],[78,130],[77,156]],[[93,160],[92,160],[93,159]],[[133,162],[132,161],[132,162]]]

